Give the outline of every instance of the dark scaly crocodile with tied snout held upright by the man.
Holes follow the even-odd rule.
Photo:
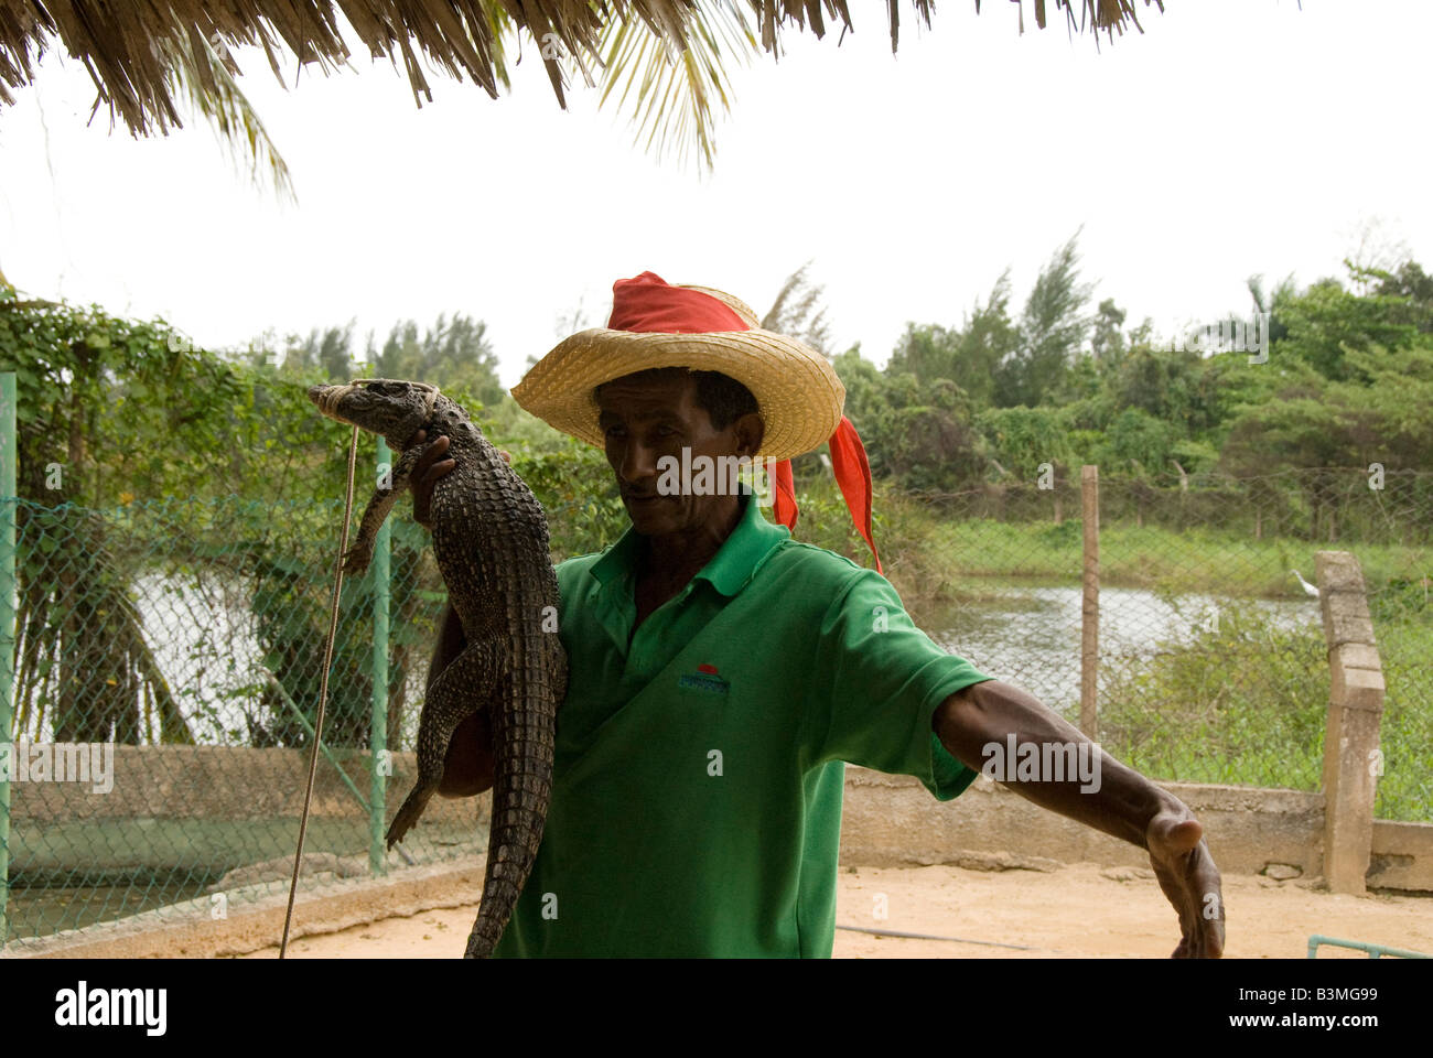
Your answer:
[[[567,688],[567,658],[556,635],[557,578],[547,551],[542,505],[473,424],[436,386],[364,378],[314,386],[308,399],[341,423],[381,434],[401,456],[380,482],[344,555],[358,576],[373,558],[378,529],[410,486],[426,444],[450,440],[456,466],[433,487],[433,552],[463,624],[466,645],[428,688],[418,720],[418,777],[388,827],[391,849],[418,821],[443,780],[457,725],[489,710],[493,731],[493,820],[483,897],[464,958],[487,958],[532,872],[552,793],[557,707]]]

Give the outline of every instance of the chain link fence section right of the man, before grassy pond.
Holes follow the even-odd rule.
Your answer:
[[[923,606],[921,625],[1078,724],[1080,492],[1048,485],[893,497],[940,525],[936,568],[890,573],[917,596],[943,579],[950,605]],[[1433,475],[1102,475],[1099,523],[1109,753],[1162,780],[1318,790],[1330,677],[1318,599],[1300,576],[1314,579],[1315,552],[1351,551],[1387,682],[1376,813],[1433,819]]]

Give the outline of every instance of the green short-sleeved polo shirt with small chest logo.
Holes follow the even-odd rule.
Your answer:
[[[917,629],[886,578],[742,503],[635,634],[632,529],[557,566],[552,803],[494,955],[830,958],[843,761],[940,800],[974,780],[930,723],[989,677]]]

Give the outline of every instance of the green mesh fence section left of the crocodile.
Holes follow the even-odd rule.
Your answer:
[[[192,900],[222,918],[287,890],[341,518],[340,500],[17,502],[7,945]],[[305,887],[486,842],[473,800],[434,804],[393,853],[374,842],[413,784],[444,599],[427,533],[390,532],[377,685],[380,575],[344,582]]]

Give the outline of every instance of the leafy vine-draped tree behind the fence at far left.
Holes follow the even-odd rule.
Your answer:
[[[330,353],[344,347],[344,328],[315,331],[299,343],[315,364],[325,334]],[[218,692],[246,715],[255,744],[307,743],[284,698],[308,710],[317,701],[328,608],[325,578],[312,573],[330,559],[322,548],[335,515],[314,502],[314,482],[341,482],[347,462],[305,397],[317,366],[228,363],[163,321],[21,301],[6,287],[0,370],[16,373],[19,396],[17,731],[192,743],[195,721],[216,718],[198,685],[209,669],[211,688],[225,681]],[[411,615],[424,601],[413,575],[424,546],[424,530],[400,519],[391,591],[400,675],[403,649],[423,638]],[[209,611],[254,619],[264,651],[257,684],[219,675],[232,669],[232,644],[205,624],[185,639],[196,682],[171,688],[145,618],[188,619],[186,592]],[[169,605],[156,605],[159,595]],[[371,604],[368,583],[345,585],[330,701],[335,744],[365,741],[371,647],[361,616]],[[401,718],[401,680],[396,690],[390,715]]]

